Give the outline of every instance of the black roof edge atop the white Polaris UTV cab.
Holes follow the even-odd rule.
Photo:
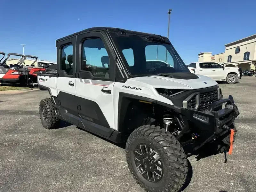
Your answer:
[[[83,31],[79,31],[79,32],[76,32],[76,33],[73,33],[71,35],[68,35],[68,36],[65,36],[65,37],[62,37],[60,39],[57,39],[56,40],[56,45],[57,45],[57,42],[60,42],[60,41],[63,41],[63,40],[66,40],[70,37],[73,37],[73,36],[77,36],[81,33],[84,33],[84,32],[88,32],[88,31],[95,31],[95,30],[104,30],[104,31],[113,31],[113,32],[120,32],[120,31],[124,31],[125,33],[129,33],[129,34],[134,34],[134,35],[141,35],[141,36],[151,36],[151,37],[158,37],[159,38],[159,35],[156,35],[156,34],[150,34],[150,33],[143,33],[143,32],[139,32],[139,31],[130,31],[130,30],[126,30],[126,29],[121,29],[121,28],[111,28],[111,27],[93,27],[93,28],[88,28],[88,29],[84,29]],[[167,37],[163,36],[163,38],[167,39]]]

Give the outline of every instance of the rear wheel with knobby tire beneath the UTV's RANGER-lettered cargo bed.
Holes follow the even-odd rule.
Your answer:
[[[41,123],[45,129],[55,129],[59,123],[59,119],[55,116],[54,102],[47,98],[40,101],[39,114]]]

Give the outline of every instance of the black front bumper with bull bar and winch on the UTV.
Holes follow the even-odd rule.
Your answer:
[[[227,103],[225,108],[222,104]],[[197,111],[188,108],[180,108],[180,114],[183,119],[187,119],[187,126],[194,133],[202,133],[203,140],[210,142],[217,137],[230,131],[229,126],[239,115],[237,106],[234,104],[233,97],[215,101],[210,108],[205,111]]]

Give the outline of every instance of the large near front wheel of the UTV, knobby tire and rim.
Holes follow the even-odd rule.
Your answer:
[[[149,192],[178,192],[188,172],[179,141],[159,126],[135,129],[126,142],[126,161],[133,178]]]

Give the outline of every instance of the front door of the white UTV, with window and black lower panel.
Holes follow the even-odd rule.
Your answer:
[[[108,48],[107,39],[101,32],[77,36],[76,94],[79,122],[110,137],[115,129],[113,86],[115,84],[115,59]]]

